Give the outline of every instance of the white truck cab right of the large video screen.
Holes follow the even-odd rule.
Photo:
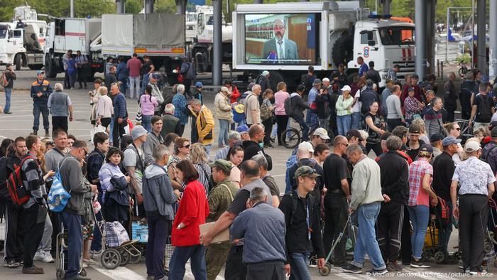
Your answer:
[[[385,87],[386,74],[393,65],[400,66],[398,79],[414,72],[414,55],[414,23],[391,19],[358,21],[354,32],[354,55],[347,68],[359,69],[359,56],[366,64],[374,61],[382,79],[378,86]]]

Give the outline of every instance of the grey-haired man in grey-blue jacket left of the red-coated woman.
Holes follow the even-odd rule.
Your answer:
[[[163,166],[168,164],[168,147],[160,144],[153,149],[152,163],[143,174],[143,207],[148,219],[148,250],[146,252],[147,275],[163,279],[164,248],[168,227],[174,220],[172,204],[180,197],[178,190],[173,190],[168,172]]]

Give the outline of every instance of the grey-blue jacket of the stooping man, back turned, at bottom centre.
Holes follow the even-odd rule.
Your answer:
[[[286,262],[285,215],[278,208],[256,203],[235,218],[229,232],[231,239],[244,238],[244,264]]]

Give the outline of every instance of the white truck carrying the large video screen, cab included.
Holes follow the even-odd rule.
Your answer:
[[[309,65],[329,77],[340,63],[352,75],[359,56],[374,61],[380,87],[394,64],[400,78],[414,71],[414,24],[364,18],[359,1],[239,4],[233,25],[233,68],[252,77],[269,70],[293,86]]]

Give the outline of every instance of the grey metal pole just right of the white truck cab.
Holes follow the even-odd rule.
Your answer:
[[[426,38],[426,1],[416,0],[415,1],[415,72],[422,79],[426,74],[427,60],[426,51],[427,43],[424,38]]]

